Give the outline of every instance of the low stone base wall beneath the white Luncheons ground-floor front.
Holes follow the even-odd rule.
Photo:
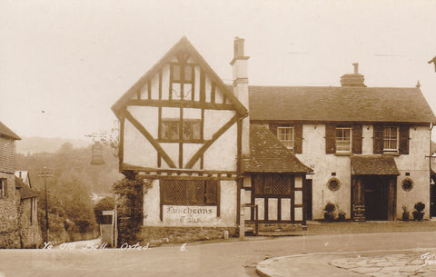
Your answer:
[[[154,227],[143,226],[139,235],[144,245],[147,242],[160,241],[166,239],[167,242],[184,243],[193,241],[206,241],[223,239],[224,232],[229,232],[229,237],[236,236],[237,229],[235,227]]]

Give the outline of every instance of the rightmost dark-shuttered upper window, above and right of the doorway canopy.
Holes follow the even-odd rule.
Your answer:
[[[374,124],[373,153],[409,153],[409,125]]]

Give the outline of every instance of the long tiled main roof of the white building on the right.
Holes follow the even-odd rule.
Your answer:
[[[419,88],[250,86],[251,120],[436,123]]]

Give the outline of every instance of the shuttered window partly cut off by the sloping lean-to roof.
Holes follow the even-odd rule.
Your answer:
[[[302,153],[302,124],[269,124],[272,134],[293,153]]]

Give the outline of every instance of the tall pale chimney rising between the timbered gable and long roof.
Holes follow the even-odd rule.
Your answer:
[[[243,38],[236,36],[233,42],[233,60],[230,64],[233,66],[233,94],[239,102],[249,108],[248,100],[248,73],[247,64],[248,56],[243,54]],[[250,117],[243,118],[243,155],[250,154]]]

